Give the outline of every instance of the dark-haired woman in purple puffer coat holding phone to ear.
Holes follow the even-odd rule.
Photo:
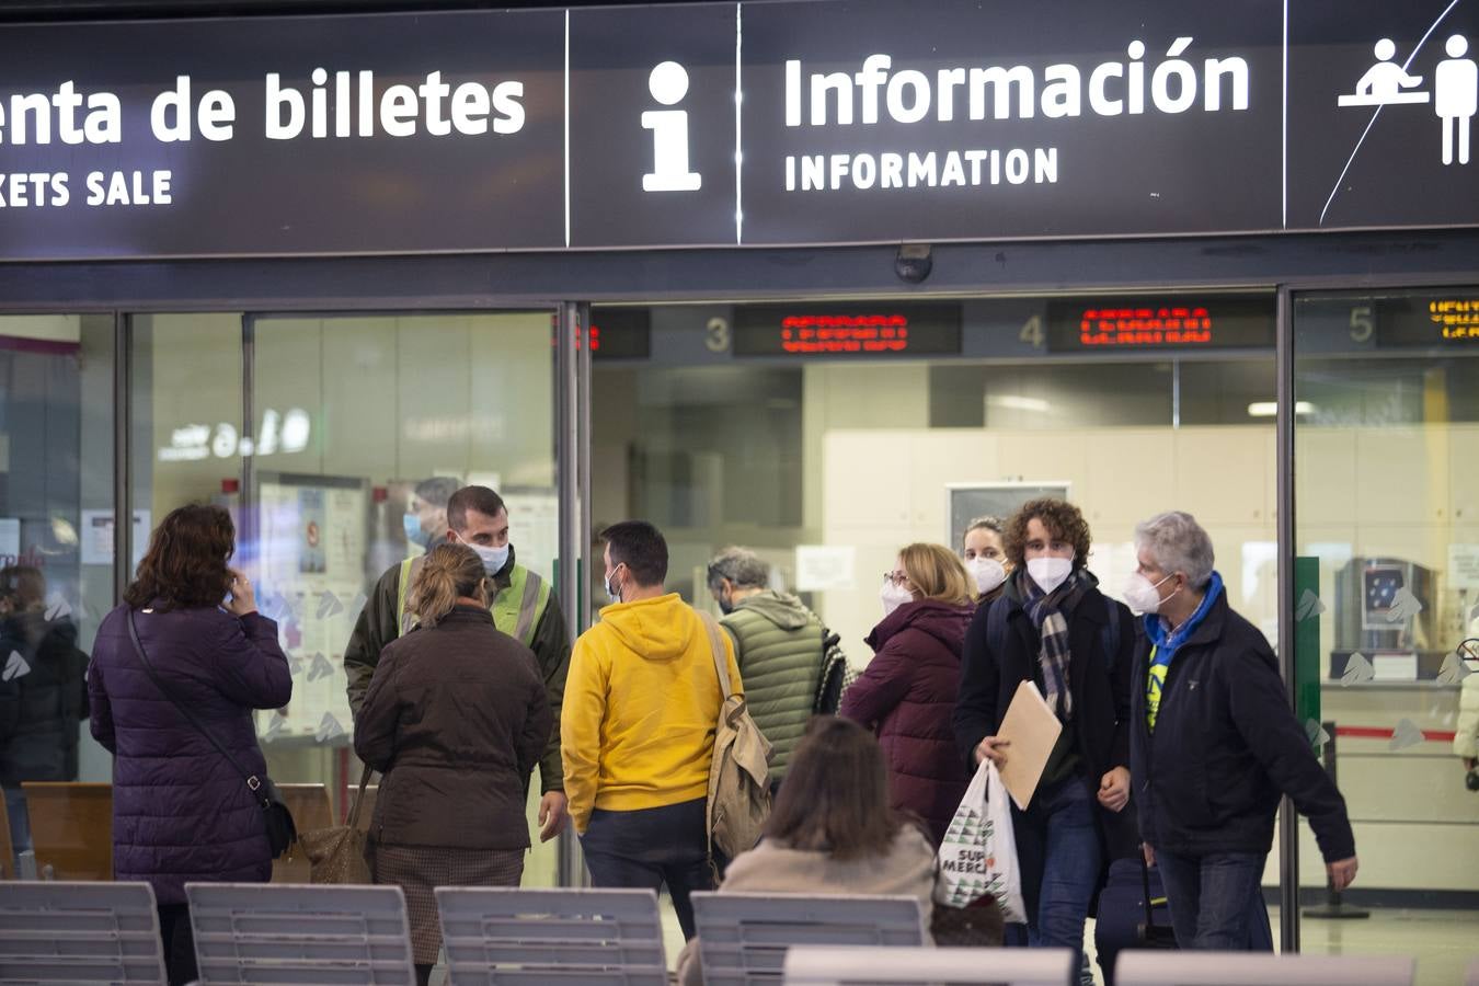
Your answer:
[[[164,517],[124,605],[104,618],[87,671],[92,735],[114,754],[114,878],[154,885],[172,985],[197,977],[185,884],[272,877],[257,800],[160,690],[243,770],[266,772],[251,710],[287,705],[293,679],[277,624],[256,612],[251,582],[226,565],[234,550],[220,507]],[[158,684],[129,637],[130,612]]]

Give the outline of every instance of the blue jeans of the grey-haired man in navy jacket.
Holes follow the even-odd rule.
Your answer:
[[[1165,884],[1176,943],[1183,949],[1268,952],[1273,949],[1263,905],[1265,853],[1179,856],[1155,850]]]

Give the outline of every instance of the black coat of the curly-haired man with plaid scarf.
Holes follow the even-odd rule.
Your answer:
[[[986,640],[991,606],[1007,611],[1007,645],[1003,653],[992,653]],[[1120,606],[1118,653],[1105,653],[1103,628],[1109,622],[1109,606]],[[1081,779],[1096,797],[1096,819],[1103,840],[1105,872],[1111,859],[1134,850],[1134,816],[1126,806],[1120,813],[1097,806],[1099,779],[1111,767],[1130,766],[1130,668],[1134,656],[1134,630],[1130,611],[1108,599],[1097,588],[1084,593],[1078,606],[1068,613],[1068,687],[1074,696],[1074,730],[1078,739]],[[975,772],[976,745],[992,736],[1022,681],[1037,679],[1038,633],[1032,618],[1022,609],[1015,591],[1004,593],[989,606],[979,606],[966,631],[966,653],[961,662],[960,699],[955,702],[955,745]],[[1010,754],[1009,754],[1010,755]],[[1131,788],[1134,779],[1131,776]],[[1022,813],[1012,807],[1016,823],[1018,862],[1022,869],[1022,891],[1028,914],[1037,912],[1038,887],[1043,883],[1043,828],[1034,806]]]

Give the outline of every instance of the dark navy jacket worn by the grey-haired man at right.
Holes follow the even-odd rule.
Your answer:
[[[1290,711],[1263,634],[1219,594],[1161,686],[1145,721],[1151,642],[1136,634],[1131,778],[1140,837],[1186,856],[1268,853],[1279,795],[1309,816],[1325,862],[1356,854],[1346,801]]]

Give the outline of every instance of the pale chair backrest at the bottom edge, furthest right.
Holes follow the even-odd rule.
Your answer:
[[[1120,952],[1120,986],[1412,986],[1417,961],[1398,955]]]

